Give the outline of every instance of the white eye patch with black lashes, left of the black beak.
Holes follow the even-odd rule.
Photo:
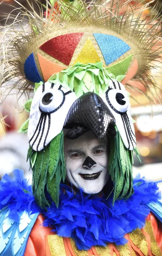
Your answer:
[[[65,118],[77,99],[70,88],[45,82],[38,87],[31,103],[28,140],[31,148],[41,151],[63,129]]]

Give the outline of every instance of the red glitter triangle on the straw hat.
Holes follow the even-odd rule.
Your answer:
[[[84,33],[70,33],[52,38],[40,46],[43,52],[69,65],[74,51]]]

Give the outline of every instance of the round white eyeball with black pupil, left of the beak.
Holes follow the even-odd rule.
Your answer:
[[[54,113],[65,101],[65,94],[62,90],[50,89],[44,91],[40,98],[39,106],[43,112]]]

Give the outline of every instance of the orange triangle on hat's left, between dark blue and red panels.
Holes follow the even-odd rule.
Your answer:
[[[49,61],[48,59],[46,59],[45,57],[43,57],[39,53],[38,53],[38,60],[39,60],[39,63],[40,63],[40,68],[42,70],[45,82],[48,81],[48,79],[52,75],[54,75],[55,73],[60,72],[64,68],[66,68],[65,66],[61,66],[61,65],[56,64],[52,61]]]

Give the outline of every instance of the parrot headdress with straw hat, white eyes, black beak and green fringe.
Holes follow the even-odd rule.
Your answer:
[[[34,98],[24,105],[30,118],[20,130],[28,131],[37,203],[48,205],[47,190],[58,205],[60,181],[65,180],[62,130],[78,123],[99,140],[109,135],[113,201],[127,199],[133,193],[133,150],[138,151],[123,84],[134,77],[148,96],[152,88],[159,89],[150,70],[157,67],[160,54],[153,48],[160,20],[151,24],[142,17],[148,4],[141,8],[136,2],[132,10],[129,1],[46,0],[46,6],[35,1],[40,14],[20,4],[12,24],[19,30],[6,26],[1,84],[18,78],[12,87],[22,93],[35,84]]]

